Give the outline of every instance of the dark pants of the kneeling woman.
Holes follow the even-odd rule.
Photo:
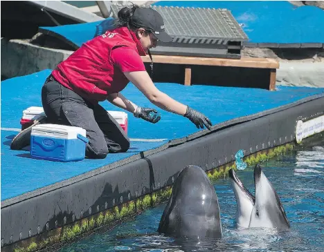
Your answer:
[[[126,152],[129,139],[116,120],[99,104],[91,104],[49,76],[42,88],[42,104],[49,124],[87,130],[88,158],[105,158],[108,153]]]

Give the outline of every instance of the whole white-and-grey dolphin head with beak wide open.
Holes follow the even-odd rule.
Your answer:
[[[255,197],[243,186],[233,169],[229,171],[229,177],[237,202],[237,226],[290,228],[278,194],[258,164],[254,168]]]

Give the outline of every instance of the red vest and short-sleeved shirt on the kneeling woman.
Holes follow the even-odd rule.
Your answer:
[[[116,28],[83,43],[52,75],[84,99],[104,101],[129,83],[123,72],[145,71],[141,56],[145,51],[135,33]]]

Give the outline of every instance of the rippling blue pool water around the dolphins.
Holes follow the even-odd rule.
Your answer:
[[[289,231],[237,230],[236,202],[227,177],[215,182],[222,219],[221,240],[197,244],[159,235],[156,230],[165,208],[161,204],[59,251],[324,251],[324,136],[261,166],[285,208],[291,224]],[[237,176],[254,192],[253,167],[237,171]]]

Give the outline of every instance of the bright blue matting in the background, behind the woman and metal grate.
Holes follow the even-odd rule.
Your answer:
[[[158,1],[154,5],[226,8],[243,25],[250,43],[324,43],[324,11],[315,6],[297,7],[288,1]],[[80,47],[109,30],[111,20],[42,29]]]

